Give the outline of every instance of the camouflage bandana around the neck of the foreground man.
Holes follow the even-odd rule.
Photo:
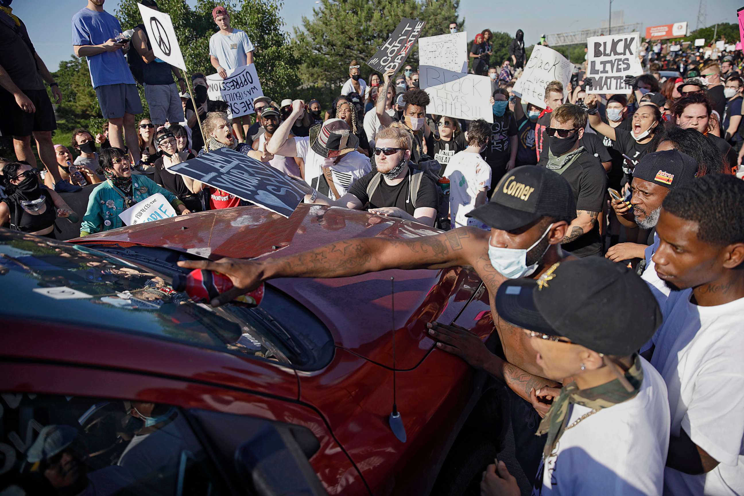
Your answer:
[[[641,368],[641,358],[638,353],[633,355],[633,365],[625,373],[625,378],[633,387],[630,392],[623,387],[618,379],[589,389],[579,389],[576,382],[563,386],[560,390],[560,396],[554,399],[551,409],[548,410],[548,414],[545,415],[545,419],[542,419],[537,429],[537,436],[548,433],[548,439],[545,441],[545,448],[542,451],[545,458],[551,456],[558,439],[565,431],[565,423],[568,421],[568,406],[571,403],[592,410],[601,410],[632,399],[638,394],[638,390],[641,389],[641,382],[644,380],[644,370]]]

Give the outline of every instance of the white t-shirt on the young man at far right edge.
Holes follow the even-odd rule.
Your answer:
[[[708,474],[664,472],[667,495],[744,494],[744,298],[717,306],[672,292],[651,363],[669,390],[672,435],[680,430],[719,465]]]

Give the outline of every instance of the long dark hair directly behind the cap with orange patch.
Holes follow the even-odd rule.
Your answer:
[[[663,126],[657,132],[648,146],[648,152],[653,153],[658,146],[667,141],[674,149],[690,155],[698,164],[696,176],[714,173],[728,173],[728,167],[723,161],[723,155],[718,147],[697,129],[682,129],[679,126]]]

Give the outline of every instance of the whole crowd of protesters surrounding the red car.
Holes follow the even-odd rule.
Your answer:
[[[88,0],[72,40],[106,125],[54,144],[44,83],[57,103],[62,95],[9,5],[0,1],[0,130],[13,136],[16,159],[0,158],[0,225],[54,237],[57,218],[82,219],[86,236],[121,228],[119,214],[155,193],[179,215],[247,205],[171,170],[228,147],[294,178],[306,203],[443,232],[352,240],[354,263],[339,263],[346,251],[333,245],[182,263],[233,278],[236,289],[214,303],[273,277],[469,265],[490,292],[501,353],[458,326],[432,323],[429,332],[440,350],[509,387],[533,494],[744,494],[741,51],[711,59],[702,48],[646,42],[647,73],[625,78],[629,95],[590,93],[585,62],[568,84],[548,82],[536,105],[514,91],[525,33],[493,65],[486,29],[467,55],[470,71],[490,78],[493,123],[427,112],[415,65],[365,80],[356,60],[339,74],[330,108],[264,95],[251,123],[208,99],[204,74],[190,76],[187,93],[143,25],[122,31],[103,0]],[[212,16],[208,57],[225,78],[254,62],[254,45],[228,9]],[[150,109],[140,120],[137,84]],[[62,196],[83,193],[79,212]],[[481,494],[520,492],[498,462]]]

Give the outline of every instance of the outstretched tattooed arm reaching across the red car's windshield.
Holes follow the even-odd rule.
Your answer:
[[[179,262],[185,268],[205,268],[226,274],[234,288],[222,293],[213,305],[227,303],[276,277],[346,277],[388,268],[446,268],[474,265],[487,251],[489,233],[458,228],[436,236],[415,239],[347,239],[289,257],[267,260],[223,258],[217,262]]]

